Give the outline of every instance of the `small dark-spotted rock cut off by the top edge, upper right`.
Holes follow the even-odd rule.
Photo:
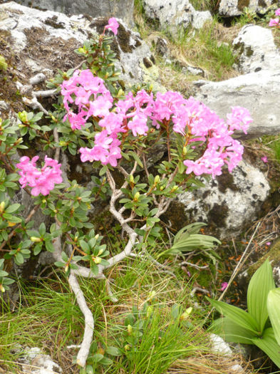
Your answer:
[[[245,7],[247,7],[249,11],[262,13],[274,3],[274,0],[221,0],[219,3],[219,14],[224,17],[239,16],[242,14]]]

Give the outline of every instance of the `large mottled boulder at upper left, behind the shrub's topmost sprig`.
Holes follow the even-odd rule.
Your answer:
[[[0,5],[0,31],[5,31],[12,51],[17,54],[17,70],[27,84],[31,76],[44,73],[52,78],[57,69],[63,71],[78,66],[81,56],[74,50],[97,31],[102,32],[108,19],[71,16],[54,11],[39,11],[14,1]],[[150,48],[138,33],[130,31],[120,20],[113,49],[125,84],[159,81],[159,74]],[[158,83],[159,85],[159,83]],[[155,85],[154,85],[155,86]]]

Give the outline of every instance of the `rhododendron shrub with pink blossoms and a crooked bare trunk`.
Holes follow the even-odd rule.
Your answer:
[[[237,106],[222,119],[177,92],[153,93],[140,85],[124,92],[107,33],[118,36],[115,19],[78,48],[85,58],[80,68],[48,83],[51,94],[61,93],[52,112],[38,103],[43,111],[19,113],[16,125],[0,121],[0,291],[13,282],[6,260],[22,265],[31,253],[53,252],[85,315],[76,361],[81,366],[94,323],[76,275],[105,279],[106,269],[143,253],[160,236],[160,216],[177,194],[202,187],[202,177],[221,175],[224,167],[234,170],[243,152],[234,132],[246,133],[252,122],[248,110]],[[83,185],[69,179],[76,171],[69,155],[92,167]],[[20,187],[33,198],[31,207],[13,201]],[[98,199],[108,202],[127,239],[113,254],[90,219]],[[38,210],[49,225],[32,220]]]

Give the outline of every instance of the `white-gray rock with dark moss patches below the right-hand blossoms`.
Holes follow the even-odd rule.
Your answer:
[[[232,171],[211,180],[204,188],[177,197],[188,222],[205,222],[219,238],[239,234],[248,227],[269,195],[263,172],[244,160]]]

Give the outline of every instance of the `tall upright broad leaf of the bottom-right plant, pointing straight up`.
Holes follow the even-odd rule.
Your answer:
[[[266,301],[269,291],[275,289],[273,274],[269,260],[254,273],[247,291],[248,313],[256,320],[260,332],[269,316]]]

